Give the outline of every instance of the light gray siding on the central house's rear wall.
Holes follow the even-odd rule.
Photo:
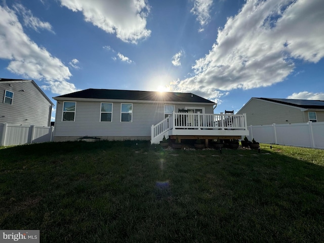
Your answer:
[[[100,122],[101,101],[76,101],[75,121],[62,121],[63,102],[63,100],[57,102],[56,137],[150,137],[151,125],[164,119],[164,103],[133,102],[133,122],[121,123],[121,103],[131,102],[112,102],[112,122]],[[175,111],[186,106],[202,107],[201,105],[175,104]],[[205,106],[205,112],[212,113],[212,111],[212,105]]]

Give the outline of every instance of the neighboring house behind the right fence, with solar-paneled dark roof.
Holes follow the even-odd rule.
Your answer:
[[[247,114],[248,125],[324,121],[323,100],[251,98],[236,114]]]

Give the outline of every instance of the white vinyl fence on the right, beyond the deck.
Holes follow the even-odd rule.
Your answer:
[[[324,122],[249,126],[249,140],[260,143],[324,149]]]

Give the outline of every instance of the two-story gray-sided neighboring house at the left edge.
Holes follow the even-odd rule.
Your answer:
[[[49,126],[52,101],[34,80],[0,78],[0,123]]]

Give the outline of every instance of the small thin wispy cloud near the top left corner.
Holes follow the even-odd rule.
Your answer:
[[[52,25],[49,22],[43,22],[39,18],[34,17],[30,10],[26,9],[21,4],[15,4],[13,6],[16,13],[21,14],[24,20],[24,25],[38,31],[38,29],[46,29],[52,33]]]

